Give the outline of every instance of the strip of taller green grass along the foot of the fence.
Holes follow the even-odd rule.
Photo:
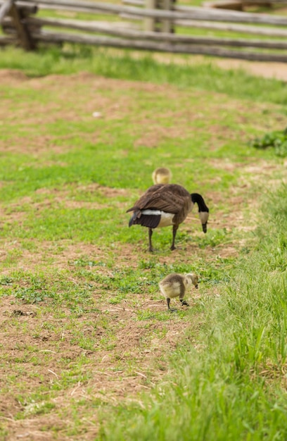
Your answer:
[[[184,63],[186,61],[186,63]],[[24,70],[29,76],[53,73],[71,74],[85,70],[105,77],[123,80],[169,83],[229,94],[231,97],[286,104],[287,89],[279,80],[248,75],[244,70],[222,70],[212,63],[189,63],[190,56],[181,56],[181,63],[159,63],[152,53],[134,56],[134,51],[113,51],[65,44],[61,47],[41,46],[27,54],[21,49],[2,49],[0,68]],[[260,89],[260,94],[258,94]]]

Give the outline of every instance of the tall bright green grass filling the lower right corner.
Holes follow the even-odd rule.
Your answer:
[[[286,440],[286,201],[286,186],[267,197],[257,249],[191,312],[166,383],[117,408],[99,440]]]

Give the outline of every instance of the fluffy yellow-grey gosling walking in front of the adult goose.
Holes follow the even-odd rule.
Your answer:
[[[170,309],[170,299],[174,297],[179,297],[181,305],[189,306],[184,300],[184,294],[186,293],[186,288],[191,287],[191,285],[194,285],[196,289],[198,288],[198,275],[194,273],[185,275],[172,273],[160,280],[160,292],[167,299],[167,309],[169,311],[176,311],[175,309]]]

